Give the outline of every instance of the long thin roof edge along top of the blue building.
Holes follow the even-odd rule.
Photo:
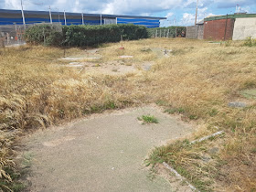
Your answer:
[[[0,9],[1,12],[13,12],[13,13],[20,13],[21,10],[13,10],[13,9]],[[31,10],[24,10],[25,14],[37,14],[37,15],[45,15],[48,14],[48,11],[31,11]],[[52,15],[64,15],[64,12],[51,12]],[[66,15],[69,16],[80,16],[83,14],[83,16],[103,16],[103,17],[121,17],[121,18],[149,18],[149,19],[167,19],[166,17],[157,17],[157,16],[122,16],[122,15],[107,15],[107,14],[85,14],[85,13],[71,13],[71,12],[65,12]]]

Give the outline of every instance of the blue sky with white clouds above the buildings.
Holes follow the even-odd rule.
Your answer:
[[[129,16],[164,16],[162,27],[195,24],[197,0],[22,0],[25,10],[114,14]],[[197,21],[206,16],[234,14],[240,10],[256,13],[256,0],[198,0]],[[21,0],[0,0],[1,9],[21,9]]]

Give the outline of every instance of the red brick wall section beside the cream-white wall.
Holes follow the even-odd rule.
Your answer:
[[[227,22],[227,28],[226,28]],[[204,24],[204,39],[212,40],[231,40],[234,29],[234,19],[219,19],[213,21],[205,21]],[[226,38],[225,38],[226,28]]]

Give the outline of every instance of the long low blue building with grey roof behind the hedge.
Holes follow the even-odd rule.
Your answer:
[[[26,24],[50,23],[50,14],[47,11],[24,11]],[[144,27],[159,27],[160,20],[165,17],[153,16],[119,16],[105,14],[82,14],[68,12],[51,12],[54,23],[62,25],[108,25],[134,24]],[[23,25],[21,10],[0,9],[0,26]]]

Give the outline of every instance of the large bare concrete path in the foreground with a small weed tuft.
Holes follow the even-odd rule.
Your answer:
[[[137,117],[152,114],[157,124]],[[164,178],[150,178],[146,155],[156,145],[191,133],[155,107],[94,115],[26,139],[32,157],[31,191],[172,191]]]

